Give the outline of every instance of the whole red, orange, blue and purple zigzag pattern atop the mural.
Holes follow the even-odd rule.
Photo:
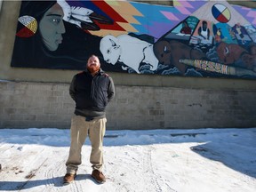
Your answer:
[[[100,31],[90,31],[92,35],[106,36],[110,33],[118,36],[136,33],[148,34],[155,39],[163,36],[205,3],[206,1],[175,0],[174,6],[152,6],[128,1],[82,1],[79,4],[68,1],[70,5],[90,8],[113,20],[113,25],[98,24]]]

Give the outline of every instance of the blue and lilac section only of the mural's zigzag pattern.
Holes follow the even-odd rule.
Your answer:
[[[142,14],[142,16],[135,16],[136,20],[139,20],[141,24],[133,24],[132,26],[136,28],[140,34],[148,34],[157,39],[174,28],[181,20],[186,19],[192,12],[195,12],[205,3],[205,1],[186,2],[184,0],[176,0],[173,6],[152,6],[151,4],[131,2]],[[159,30],[160,28],[161,30]]]

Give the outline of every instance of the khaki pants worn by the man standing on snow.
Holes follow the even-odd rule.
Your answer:
[[[76,173],[78,165],[82,164],[81,150],[84,141],[89,136],[92,143],[90,162],[92,169],[102,172],[103,165],[103,137],[106,132],[106,118],[85,121],[84,116],[73,116],[71,119],[71,145],[69,148],[68,161],[66,162],[67,173]]]

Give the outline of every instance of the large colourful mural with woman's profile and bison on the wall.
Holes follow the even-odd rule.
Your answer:
[[[12,67],[256,78],[255,9],[226,1],[22,1]],[[254,16],[253,16],[254,15]]]

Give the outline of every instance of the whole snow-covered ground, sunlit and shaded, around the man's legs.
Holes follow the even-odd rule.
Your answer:
[[[105,184],[91,178],[90,140],[62,185],[69,130],[0,129],[0,191],[256,191],[256,128],[107,131]]]

